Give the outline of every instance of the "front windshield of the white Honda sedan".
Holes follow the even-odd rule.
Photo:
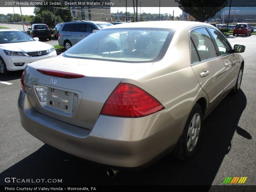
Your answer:
[[[0,31],[0,44],[35,41],[22,31]]]

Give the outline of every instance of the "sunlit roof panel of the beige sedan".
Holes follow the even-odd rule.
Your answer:
[[[167,29],[178,29],[178,28],[194,28],[201,26],[213,27],[208,23],[195,22],[195,21],[143,21],[124,23],[122,25],[113,25],[109,28],[167,28]]]

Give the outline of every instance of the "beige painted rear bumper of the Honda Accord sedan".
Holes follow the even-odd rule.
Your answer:
[[[93,129],[84,129],[35,111],[28,95],[18,99],[21,124],[37,139],[92,162],[136,168],[170,153],[187,115],[175,121],[166,109],[140,118],[100,115]]]

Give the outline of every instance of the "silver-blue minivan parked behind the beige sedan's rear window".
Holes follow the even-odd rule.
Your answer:
[[[60,46],[69,49],[72,45],[76,44],[84,37],[90,35],[93,30],[99,30],[104,27],[112,25],[108,22],[101,21],[72,21],[63,23],[59,31],[58,42]]]

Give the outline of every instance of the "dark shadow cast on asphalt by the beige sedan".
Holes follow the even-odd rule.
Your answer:
[[[211,185],[224,157],[232,148],[231,140],[235,132],[246,139],[252,139],[250,133],[238,126],[246,103],[242,90],[236,95],[228,94],[203,121],[197,151],[187,162],[166,156],[140,172],[123,171],[115,178],[110,178],[103,167],[91,165],[58,149],[43,145],[2,172],[0,185],[13,185],[4,182],[6,177],[62,179],[62,183],[54,185]]]

